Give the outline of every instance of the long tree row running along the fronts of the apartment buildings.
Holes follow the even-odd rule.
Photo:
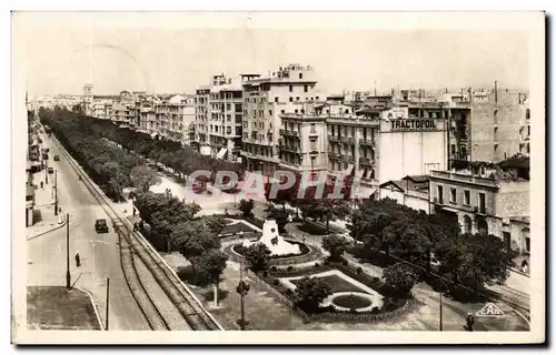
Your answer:
[[[83,126],[90,126],[95,134],[120,144],[125,150],[132,151],[172,169],[180,176],[189,175],[195,171],[208,170],[212,172],[209,181],[214,182],[218,171],[232,171],[242,180],[245,170],[241,164],[201,155],[190,146],[182,146],[179,142],[165,139],[152,139],[147,133],[120,128],[108,120],[98,120],[90,116],[79,116]]]

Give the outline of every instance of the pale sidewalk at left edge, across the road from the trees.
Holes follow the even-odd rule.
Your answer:
[[[66,225],[63,211],[54,215],[53,181],[51,178],[52,175],[48,178],[48,184],[43,184],[41,189],[40,182],[44,182],[44,171],[34,173],[32,176],[37,189],[34,190],[33,225],[27,227],[27,240]]]

